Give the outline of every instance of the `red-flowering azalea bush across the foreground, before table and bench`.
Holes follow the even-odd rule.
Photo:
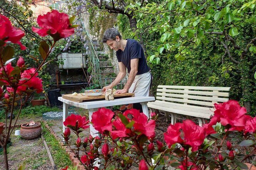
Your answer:
[[[252,156],[256,154],[256,118],[247,115],[237,101],[214,105],[214,116],[202,127],[191,120],[170,124],[164,133],[165,142],[155,138],[158,115],[151,113],[148,119],[136,109],[114,118],[112,111],[100,108],[92,114],[91,122],[72,114],[64,121],[68,128],[63,137],[71,146],[70,133],[75,133],[72,151],[87,170],[160,170],[169,166],[182,170],[248,169],[245,161],[255,164]],[[128,114],[132,115],[131,120]],[[81,135],[89,124],[101,137]],[[228,136],[232,136],[231,141]],[[68,169],[71,168],[64,170]]]

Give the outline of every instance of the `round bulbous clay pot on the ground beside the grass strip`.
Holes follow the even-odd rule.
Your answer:
[[[23,139],[34,139],[41,135],[41,123],[35,122],[34,126],[26,126],[27,123],[21,125],[20,135]]]

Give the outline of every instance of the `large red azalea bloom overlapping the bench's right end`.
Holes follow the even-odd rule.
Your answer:
[[[217,121],[223,126],[230,125],[230,130],[244,130],[245,123],[251,117],[245,115],[246,108],[241,107],[238,101],[229,100],[224,103],[214,103],[216,110],[214,111],[214,117],[217,117]]]

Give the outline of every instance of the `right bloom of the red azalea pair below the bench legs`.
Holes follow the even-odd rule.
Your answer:
[[[191,120],[185,120],[181,127],[184,133],[183,144],[190,145],[192,152],[197,151],[204,141],[206,135],[205,128],[196,125]]]

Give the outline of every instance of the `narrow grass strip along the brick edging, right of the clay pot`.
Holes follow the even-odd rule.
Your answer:
[[[46,129],[44,123],[41,124],[42,134],[44,136],[45,141],[50,149],[53,160],[58,169],[65,168],[66,166],[72,167],[71,161],[69,159],[69,155],[65,153],[65,150],[59,145],[59,142],[55,139],[55,137]]]

